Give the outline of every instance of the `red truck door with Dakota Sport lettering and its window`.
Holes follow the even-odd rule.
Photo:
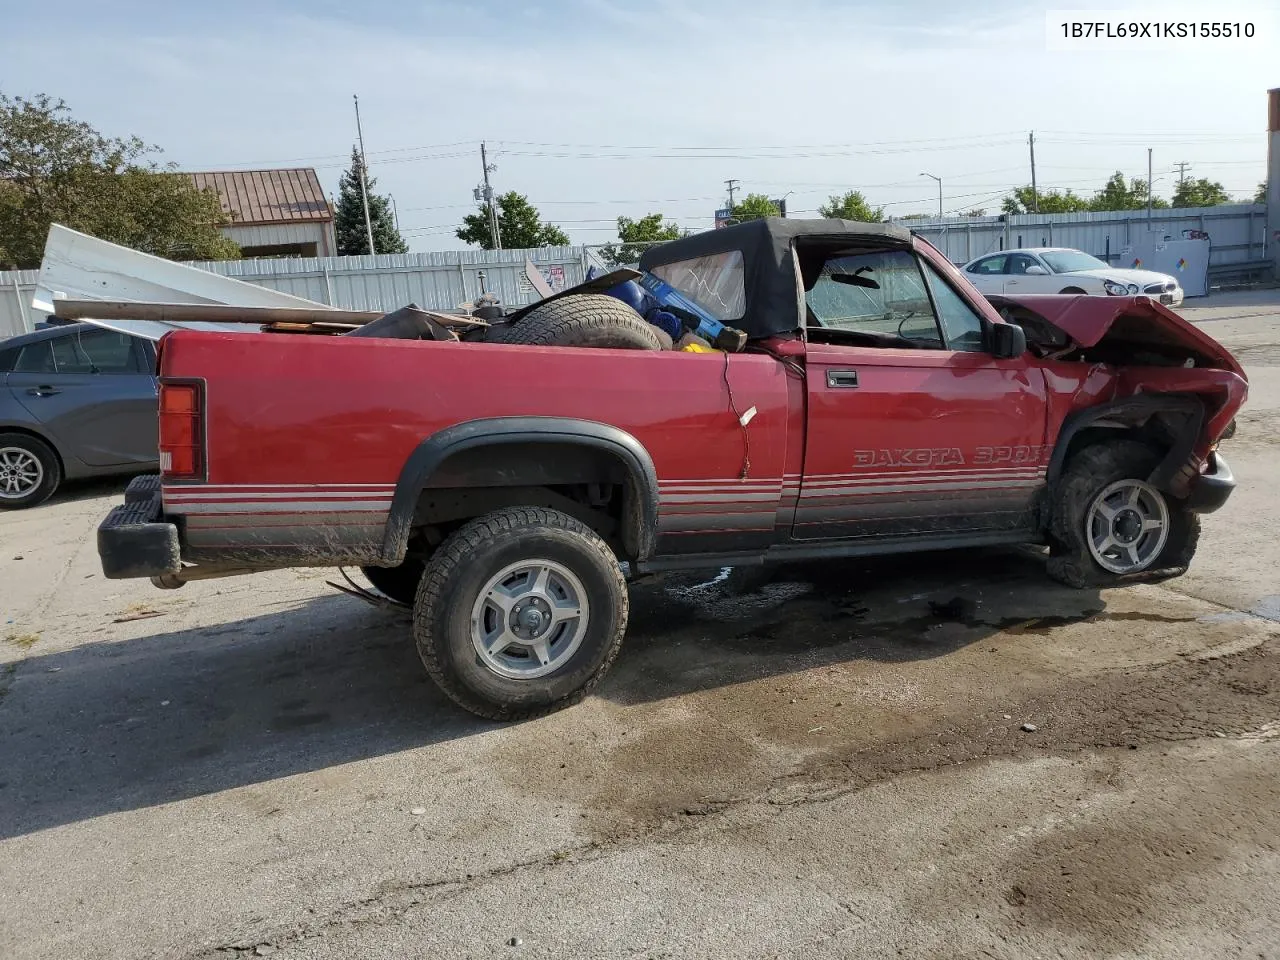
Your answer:
[[[943,545],[1033,529],[1047,463],[1043,374],[987,353],[979,314],[913,251],[813,266],[794,539]]]

